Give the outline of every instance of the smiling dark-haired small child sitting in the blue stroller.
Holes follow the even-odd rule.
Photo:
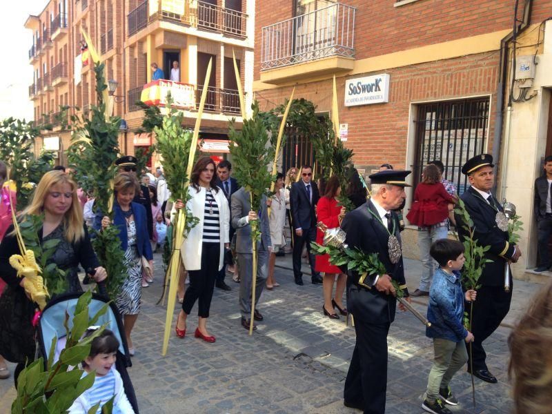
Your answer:
[[[90,326],[84,337],[94,333],[99,326]],[[125,394],[121,375],[115,369],[119,341],[109,329],[104,329],[90,344],[90,355],[81,363],[86,373],[95,371],[96,379],[92,387],[84,391],[69,408],[69,414],[86,414],[92,406],[101,406],[113,396],[113,414],[135,414]]]

